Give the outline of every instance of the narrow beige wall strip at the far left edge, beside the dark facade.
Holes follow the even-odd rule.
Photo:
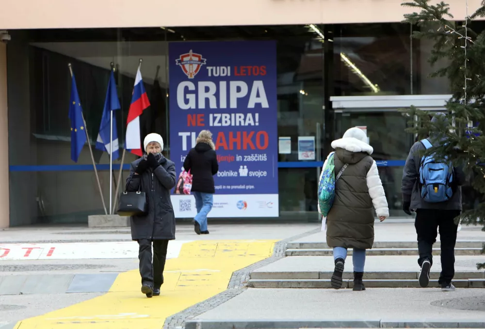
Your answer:
[[[0,43],[0,172],[8,172],[7,47]],[[9,226],[9,181],[0,184],[0,229]]]

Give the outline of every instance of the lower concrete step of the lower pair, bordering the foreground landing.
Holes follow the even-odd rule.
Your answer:
[[[420,288],[418,280],[363,280],[367,288]],[[485,288],[485,279],[453,280],[457,288]],[[251,288],[331,288],[330,279],[301,279],[301,280],[255,280],[248,282]],[[342,288],[353,288],[354,280],[344,279]],[[438,280],[430,280],[429,287],[438,287]]]

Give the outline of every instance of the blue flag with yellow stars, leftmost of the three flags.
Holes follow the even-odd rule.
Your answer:
[[[86,131],[82,120],[81,100],[79,99],[76,78],[72,75],[71,100],[69,102],[69,119],[71,120],[71,159],[78,162],[82,147],[86,142]]]

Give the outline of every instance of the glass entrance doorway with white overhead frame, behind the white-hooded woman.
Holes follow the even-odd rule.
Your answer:
[[[403,96],[345,96],[330,97],[335,115],[335,134],[340,138],[355,126],[366,130],[372,157],[379,167],[379,174],[389,205],[391,218],[405,217],[402,210],[401,180],[403,168],[416,137],[406,131],[409,118],[399,111],[411,105],[422,110],[445,110],[445,101],[451,95]]]

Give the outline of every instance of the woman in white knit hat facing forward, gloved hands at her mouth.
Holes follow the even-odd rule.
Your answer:
[[[131,163],[127,191],[146,193],[148,213],[131,217],[131,238],[138,241],[142,293],[160,295],[168,241],[175,239],[175,214],[170,189],[175,186],[175,163],[163,157],[163,140],[159,134],[148,134],[145,155]],[[153,243],[153,263],[152,263]]]

